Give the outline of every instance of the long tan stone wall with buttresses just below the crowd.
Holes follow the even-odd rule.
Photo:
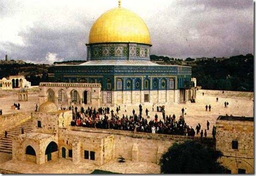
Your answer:
[[[212,138],[175,136],[167,134],[134,133],[122,130],[99,130],[95,128],[71,127],[72,131],[84,131],[95,134],[114,135],[114,158],[119,156],[126,160],[159,163],[161,155],[175,142],[195,140],[210,147],[215,147]]]

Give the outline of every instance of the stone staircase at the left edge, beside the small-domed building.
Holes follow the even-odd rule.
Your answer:
[[[12,153],[12,137],[21,134],[21,128],[24,128],[24,133],[31,132],[31,120],[26,120],[24,123],[7,130],[7,137],[5,137],[5,132],[0,134],[0,152]]]

